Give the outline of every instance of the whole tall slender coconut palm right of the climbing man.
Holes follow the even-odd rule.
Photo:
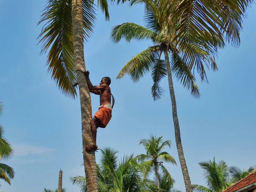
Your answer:
[[[189,172],[186,166],[186,160],[184,157],[180,137],[180,125],[177,116],[177,105],[172,79],[173,76],[178,81],[180,81],[181,84],[183,84],[183,87],[191,90],[192,96],[199,98],[200,93],[198,86],[195,84],[195,76],[191,72],[191,68],[187,63],[190,60],[183,58],[183,50],[177,49],[175,47],[176,42],[172,41],[172,33],[169,32],[167,25],[168,19],[162,17],[162,15],[161,7],[150,1],[147,2],[145,11],[145,27],[135,23],[123,23],[113,27],[111,38],[115,43],[124,38],[128,42],[131,40],[151,40],[153,44],[151,47],[148,47],[147,49],[131,58],[131,60],[128,61],[124,67],[122,67],[122,70],[119,72],[117,79],[120,79],[128,74],[131,76],[131,79],[136,82],[139,81],[139,79],[146,73],[151,71],[151,76],[154,82],[151,88],[151,93],[154,100],[156,100],[160,99],[164,92],[163,88],[160,87],[160,81],[165,76],[168,77],[169,91],[172,101],[172,117],[175,128],[175,141],[179,155],[180,166],[183,173],[186,191],[192,192]],[[212,34],[207,35],[211,36]],[[197,44],[194,42],[191,43],[192,44],[190,47],[196,49],[194,54],[198,55],[198,58],[192,61],[195,63],[200,62],[201,68],[204,66],[203,61],[208,61],[208,63],[206,63],[207,67],[212,68],[212,70],[217,70],[217,65],[214,61],[214,55],[212,55],[212,52],[206,52],[203,48],[211,47],[212,50],[215,50],[217,47],[222,45],[221,42],[219,41],[217,44],[214,41],[204,42],[203,40],[198,39]],[[205,73],[202,72],[201,75],[204,76]]]

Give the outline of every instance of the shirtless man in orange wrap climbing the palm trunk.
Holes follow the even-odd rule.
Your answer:
[[[111,84],[111,79],[109,77],[103,77],[99,85],[93,86],[89,79],[89,73],[89,71],[84,72],[87,79],[88,88],[91,93],[99,95],[100,106],[99,111],[93,115],[94,117],[90,121],[93,143],[87,145],[86,150],[96,151],[98,148],[96,145],[97,128],[105,128],[112,117],[111,90],[109,87]]]

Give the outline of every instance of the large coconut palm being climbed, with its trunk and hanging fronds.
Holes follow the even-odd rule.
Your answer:
[[[107,0],[98,0],[98,7],[109,19]],[[58,88],[66,96],[75,98],[73,86],[79,83],[84,171],[89,192],[97,192],[95,151],[86,151],[92,142],[90,120],[92,118],[90,92],[84,71],[84,41],[93,32],[96,6],[92,0],[47,0],[38,24],[44,23],[38,36],[42,43],[41,53],[48,52],[48,72]]]

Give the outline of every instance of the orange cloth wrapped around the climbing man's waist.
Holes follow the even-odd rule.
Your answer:
[[[99,111],[97,111],[93,116],[97,117],[100,122],[106,127],[112,117],[111,104],[104,103],[103,105],[99,106]]]

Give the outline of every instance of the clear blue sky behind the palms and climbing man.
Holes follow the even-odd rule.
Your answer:
[[[69,178],[84,175],[79,100],[61,94],[47,74],[46,55],[40,56],[40,46],[36,46],[42,27],[36,25],[44,5],[42,0],[0,0],[0,101],[4,104],[0,122],[15,149],[15,155],[5,163],[16,172],[11,186],[0,181],[0,192],[56,189],[59,169],[63,170],[67,192],[79,192]],[[198,163],[214,156],[240,168],[256,164],[255,10],[253,4],[247,12],[241,46],[220,50],[218,72],[207,71],[209,84],[198,81],[201,99],[192,98],[175,80],[183,149],[194,184],[204,185]],[[110,14],[111,20],[106,22],[98,12],[95,32],[84,48],[92,83],[111,77],[116,100],[111,122],[98,131],[97,144],[115,148],[120,155],[141,154],[140,139],[156,134],[172,141],[166,151],[178,162],[167,79],[161,84],[166,94],[155,102],[150,75],[136,84],[128,77],[116,80],[121,67],[151,44],[113,44],[110,29],[124,22],[143,25],[143,6],[110,6]],[[92,106],[94,113],[99,96],[92,95]],[[99,155],[97,152],[96,160]],[[166,167],[176,180],[175,188],[184,192],[179,164]]]

